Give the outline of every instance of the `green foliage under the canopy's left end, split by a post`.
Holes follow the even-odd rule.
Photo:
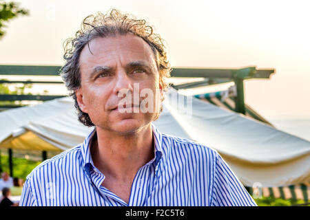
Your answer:
[[[1,167],[3,171],[10,173],[10,168],[8,166],[8,156],[1,155]],[[24,158],[13,157],[13,175],[14,177],[19,177],[25,179],[27,175],[41,162],[32,161]]]

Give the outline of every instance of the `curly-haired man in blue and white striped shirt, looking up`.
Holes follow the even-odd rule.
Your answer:
[[[64,58],[79,120],[94,130],[28,175],[21,206],[256,206],[214,149],[152,124],[170,67],[144,20],[87,17]]]

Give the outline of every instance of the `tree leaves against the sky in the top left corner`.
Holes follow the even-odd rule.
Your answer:
[[[10,19],[14,19],[19,15],[28,15],[28,10],[19,8],[19,5],[14,1],[2,2],[0,1],[0,39],[5,34],[3,28],[6,27],[4,24]]]

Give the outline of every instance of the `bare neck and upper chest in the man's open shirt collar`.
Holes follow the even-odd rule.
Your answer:
[[[126,181],[154,157],[151,124],[130,135],[96,127],[96,135],[92,141],[92,159],[106,177]]]

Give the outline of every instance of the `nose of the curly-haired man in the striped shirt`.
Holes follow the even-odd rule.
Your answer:
[[[118,96],[118,94],[134,92],[132,80],[129,76],[127,76],[124,69],[120,69],[118,72],[116,72],[115,81],[114,94],[116,94],[116,96]]]

